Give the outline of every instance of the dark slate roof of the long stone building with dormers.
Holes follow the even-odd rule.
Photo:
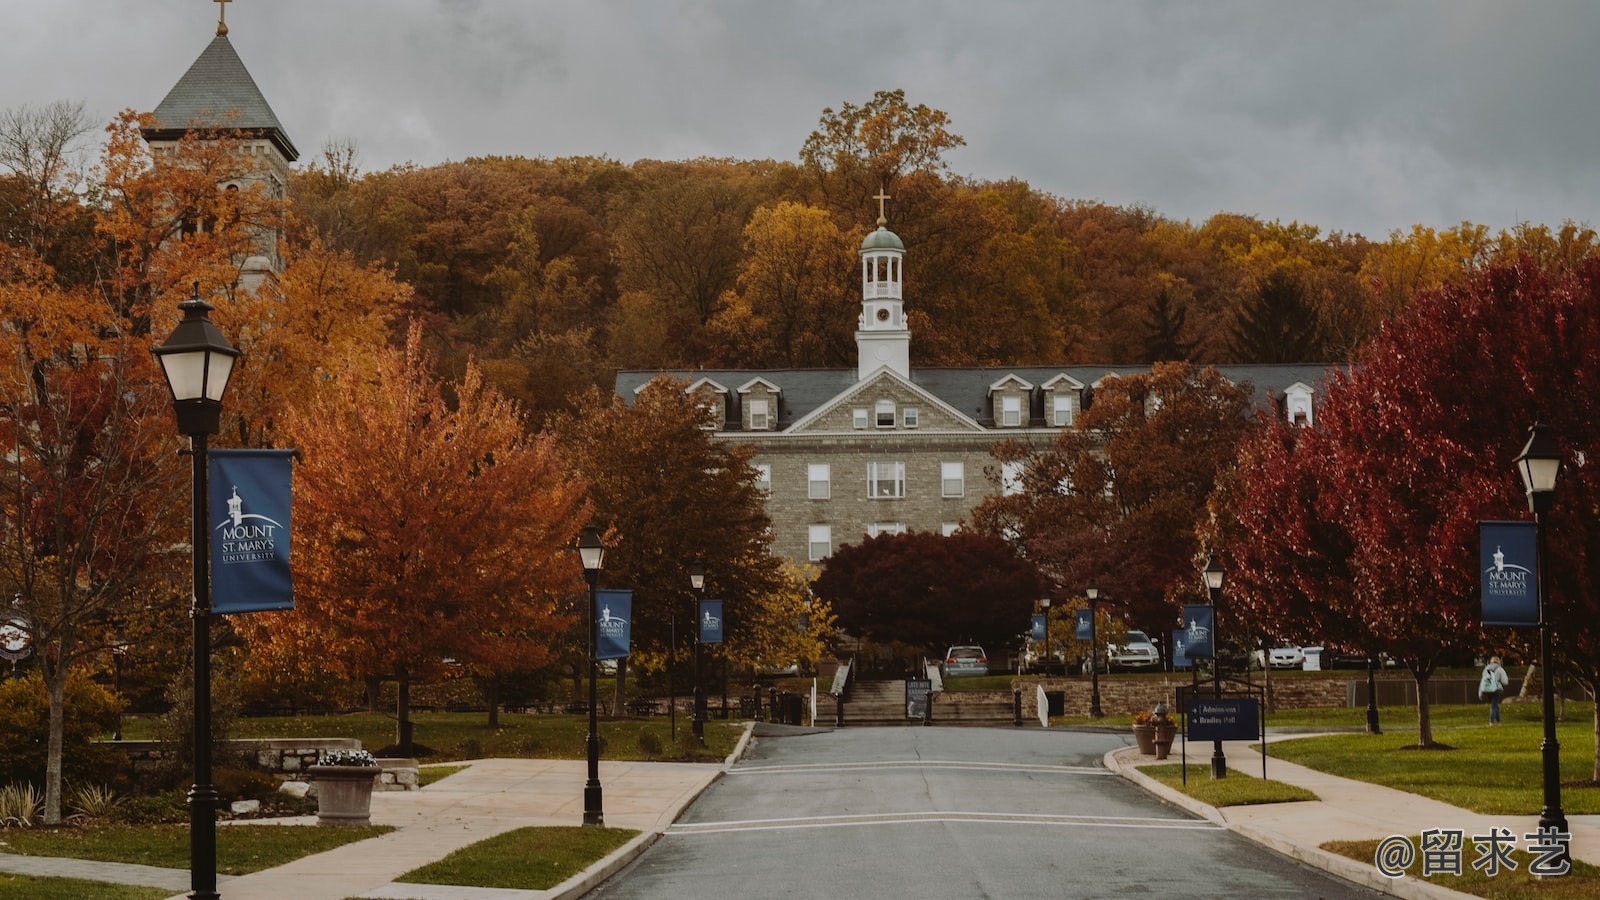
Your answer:
[[[1282,397],[1283,389],[1296,381],[1322,391],[1330,372],[1344,368],[1331,364],[1309,365],[1218,365],[1234,384],[1248,383],[1253,389],[1253,405],[1264,408],[1270,397]],[[1070,375],[1085,386],[1093,386],[1106,375],[1138,375],[1149,365],[1019,365],[994,368],[912,368],[910,383],[944,400],[955,410],[989,424],[989,386],[1006,375],[1016,375],[1030,384],[1043,384],[1056,375]],[[629,404],[635,391],[658,375],[675,381],[694,383],[710,380],[728,391],[736,391],[752,378],[765,378],[778,386],[782,397],[779,428],[787,428],[822,407],[856,384],[854,368],[694,368],[656,370],[624,368],[616,373],[616,392]]]

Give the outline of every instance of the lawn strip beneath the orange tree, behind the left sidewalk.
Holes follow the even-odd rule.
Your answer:
[[[430,762],[453,759],[584,759],[587,716],[501,713],[499,725],[488,727],[483,713],[416,713],[411,716],[413,740],[434,753]],[[128,717],[123,733],[128,740],[149,740],[152,719]],[[678,716],[678,735],[686,735],[690,722]],[[706,746],[694,749],[690,741],[674,745],[667,716],[648,719],[600,719],[602,759],[626,761],[722,761],[739,740],[733,722],[712,721],[706,729]],[[363,748],[378,749],[395,740],[394,717],[384,713],[352,713],[347,716],[266,716],[235,719],[234,738],[355,738]]]

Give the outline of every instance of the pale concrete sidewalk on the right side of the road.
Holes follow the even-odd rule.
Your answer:
[[[1267,741],[1270,745],[1294,737],[1307,735],[1269,735]],[[1250,749],[1243,741],[1226,741],[1222,748],[1230,772],[1238,770],[1261,777],[1259,753]],[[1163,764],[1178,762],[1178,751],[1179,748],[1174,745],[1173,756]],[[1470,836],[1483,834],[1491,826],[1510,830],[1517,836],[1517,846],[1526,847],[1522,836],[1534,831],[1539,823],[1538,815],[1482,815],[1419,794],[1339,778],[1275,759],[1270,756],[1270,746],[1267,753],[1267,778],[1306,788],[1318,799],[1213,809],[1142,775],[1138,765],[1155,764],[1155,757],[1142,756],[1136,746],[1107,753],[1106,765],[1162,799],[1203,815],[1243,838],[1395,897],[1440,900],[1470,895],[1414,878],[1392,879],[1381,874],[1371,860],[1357,862],[1318,847],[1326,841],[1381,841],[1390,834],[1405,834],[1414,839],[1424,830],[1459,828]],[[1189,746],[1189,777],[1211,777],[1210,743]],[[1568,815],[1566,820],[1573,834],[1573,858],[1600,863],[1600,815]],[[1469,839],[1462,854],[1462,866],[1470,866],[1475,857]]]

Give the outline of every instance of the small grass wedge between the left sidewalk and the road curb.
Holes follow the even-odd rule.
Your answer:
[[[547,890],[627,844],[632,828],[518,828],[462,847],[395,881]]]

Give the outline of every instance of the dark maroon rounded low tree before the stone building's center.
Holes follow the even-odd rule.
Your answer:
[[[958,641],[1013,647],[1042,589],[1029,560],[973,532],[869,536],[834,551],[816,580],[846,633],[934,653]]]

